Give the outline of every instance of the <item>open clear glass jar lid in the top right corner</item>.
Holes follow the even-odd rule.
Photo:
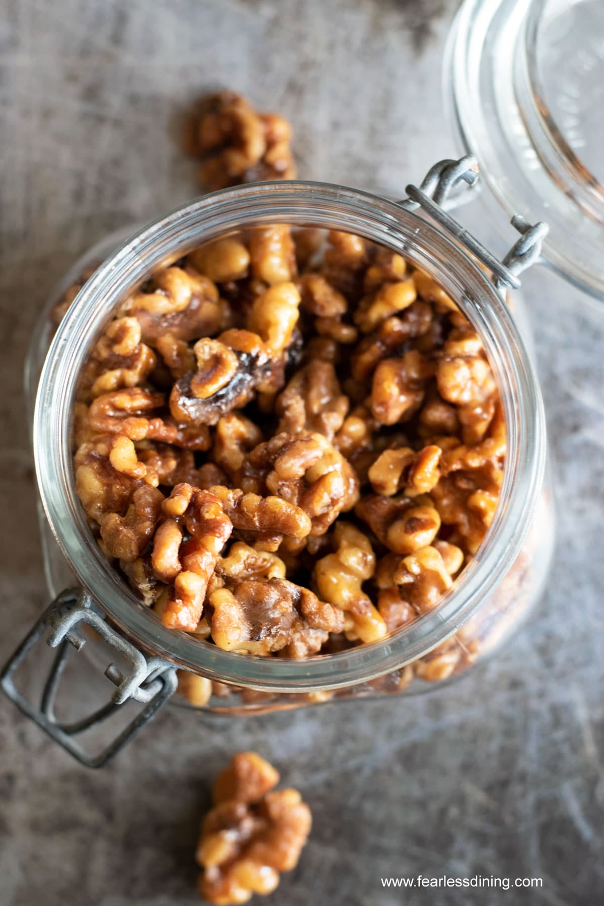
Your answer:
[[[544,257],[604,298],[602,0],[465,0],[445,90],[494,198],[547,220]]]

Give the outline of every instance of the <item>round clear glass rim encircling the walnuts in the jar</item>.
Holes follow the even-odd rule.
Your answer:
[[[383,640],[305,660],[223,651],[164,627],[101,554],[76,494],[72,468],[72,401],[82,356],[115,305],[150,273],[201,242],[270,223],[358,233],[435,276],[483,338],[508,433],[493,524],[438,607]],[[43,507],[62,553],[92,598],[130,638],[210,679],[301,692],[369,681],[417,660],[445,641],[494,592],[532,522],[543,480],[545,421],[532,364],[508,306],[460,246],[395,202],[337,185],[283,181],[224,189],[177,207],[132,236],[99,267],[63,318],[44,361],[34,411],[34,458]]]

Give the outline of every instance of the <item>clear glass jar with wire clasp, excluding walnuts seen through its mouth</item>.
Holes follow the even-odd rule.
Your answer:
[[[431,208],[433,215],[440,211],[434,204]],[[442,212],[437,219],[449,227],[454,223],[446,222]],[[436,610],[380,641],[305,660],[223,651],[164,627],[93,542],[72,467],[72,409],[81,365],[120,302],[150,274],[193,247],[217,236],[275,223],[355,233],[388,246],[431,275],[483,339],[503,402],[508,443],[494,522]],[[106,254],[116,238],[92,249],[66,283],[95,257]],[[83,610],[73,612],[75,594],[60,596],[20,649],[19,658],[33,647],[48,623],[53,626],[53,644],[65,644],[68,639],[77,647],[82,637],[75,626],[87,622],[127,659],[138,663],[130,676],[108,669],[118,686],[115,702],[139,692],[140,701],[150,701],[145,711],[149,716],[153,701],[157,698],[157,705],[173,691],[176,682],[167,678],[176,666],[216,683],[220,695],[210,699],[207,709],[249,713],[359,694],[425,691],[482,660],[509,637],[538,600],[551,559],[553,519],[551,489],[544,484],[545,425],[541,393],[522,335],[504,294],[461,245],[465,241],[474,253],[487,255],[471,239],[457,236],[455,241],[426,218],[384,198],[340,186],[283,182],[226,189],[200,198],[145,227],[109,255],[84,284],[56,333],[52,336],[46,319],[33,339],[30,388],[50,342],[34,412],[49,588],[54,594],[63,583],[77,582],[85,592]],[[54,296],[49,310],[55,301]],[[522,308],[520,298],[514,305]],[[71,578],[64,573],[65,564]],[[140,651],[145,652],[144,662],[137,660]],[[108,753],[86,760],[62,728],[17,697],[11,679],[15,663],[5,670],[5,691],[72,754],[85,763],[101,764]],[[114,750],[115,746],[109,754]]]

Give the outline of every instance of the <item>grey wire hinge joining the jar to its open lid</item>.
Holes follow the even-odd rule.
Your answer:
[[[421,186],[407,186],[407,198],[398,204],[407,211],[422,208],[429,217],[455,236],[457,242],[465,246],[475,258],[478,258],[491,271],[492,279],[500,293],[520,286],[518,275],[534,264],[542,252],[542,243],[550,227],[540,221],[529,224],[519,214],[512,217],[511,223],[520,234],[503,261],[492,255],[478,239],[469,233],[454,217],[447,214],[447,208],[458,207],[460,203],[474,197],[479,186],[480,171],[472,154],[459,160],[439,160],[428,170]]]

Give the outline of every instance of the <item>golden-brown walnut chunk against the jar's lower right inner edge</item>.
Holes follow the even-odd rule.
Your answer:
[[[411,605],[417,614],[434,610],[453,580],[445,562],[436,547],[420,547],[413,554],[395,557],[387,554],[378,564],[376,584],[380,590],[398,586],[402,601]],[[380,591],[379,609],[392,598],[382,598]]]

